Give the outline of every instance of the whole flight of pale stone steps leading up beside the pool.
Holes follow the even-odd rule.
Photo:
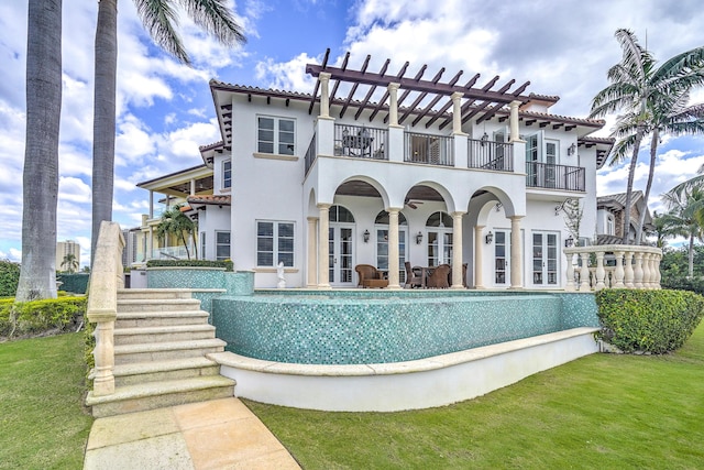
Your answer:
[[[233,396],[234,381],[206,354],[222,352],[188,289],[119,289],[111,395],[86,397],[95,417]]]

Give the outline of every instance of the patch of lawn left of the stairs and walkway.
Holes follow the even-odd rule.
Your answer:
[[[0,343],[0,469],[80,469],[84,334]]]

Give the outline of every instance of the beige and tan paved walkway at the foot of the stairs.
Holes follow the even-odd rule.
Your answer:
[[[300,469],[238,398],[96,419],[84,469]]]

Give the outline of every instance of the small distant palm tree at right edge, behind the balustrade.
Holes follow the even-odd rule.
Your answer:
[[[662,222],[672,236],[689,239],[688,273],[694,275],[694,240],[704,237],[704,189],[693,188],[683,193],[672,190],[662,196],[669,211],[662,215]]]

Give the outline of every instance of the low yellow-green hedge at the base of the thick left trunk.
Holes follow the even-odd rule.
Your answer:
[[[86,297],[0,303],[0,337],[21,337],[75,329],[86,313]]]

